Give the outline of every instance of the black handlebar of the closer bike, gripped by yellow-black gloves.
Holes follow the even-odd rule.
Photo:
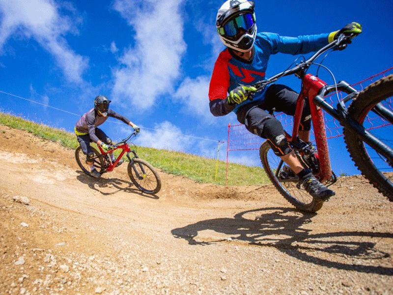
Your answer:
[[[344,34],[340,34],[336,40],[334,40],[333,42],[329,43],[328,45],[322,47],[320,50],[318,50],[316,53],[314,53],[309,59],[302,61],[301,63],[297,64],[293,68],[287,69],[277,75],[270,77],[269,79],[260,81],[256,84],[254,84],[253,86],[257,89],[256,91],[261,91],[267,85],[276,82],[281,77],[289,76],[292,74],[302,77],[305,70],[307,70],[310,67],[310,65],[313,63],[313,61],[315,59],[317,59],[320,55],[322,55],[324,52],[328,51],[329,49],[333,49],[333,50],[345,49],[347,44],[351,43],[352,37],[353,37],[352,34],[349,36],[346,36]],[[253,94],[254,92],[250,91],[250,93]]]

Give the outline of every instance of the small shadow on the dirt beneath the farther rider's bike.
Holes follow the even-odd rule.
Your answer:
[[[100,194],[104,196],[108,195],[114,195],[120,191],[125,192],[125,193],[133,193],[140,195],[142,197],[150,198],[150,199],[155,199],[158,200],[159,197],[157,195],[151,195],[151,194],[145,194],[141,192],[138,188],[134,186],[134,184],[131,181],[123,180],[117,177],[111,177],[111,178],[106,178],[106,177],[100,177],[100,178],[94,178],[91,176],[86,175],[83,171],[76,171],[79,175],[77,176],[77,179],[84,183],[87,184],[87,186]],[[104,188],[107,188],[107,191],[104,191]],[[108,192],[108,189],[110,190]]]

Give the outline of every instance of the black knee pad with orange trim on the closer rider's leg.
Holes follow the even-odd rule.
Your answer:
[[[269,118],[265,121],[263,137],[267,139],[273,152],[280,157],[290,153],[292,150],[286,139],[281,122],[276,118]]]

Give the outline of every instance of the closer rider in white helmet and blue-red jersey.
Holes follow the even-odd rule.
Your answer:
[[[270,32],[257,33],[254,2],[227,0],[218,11],[216,27],[227,48],[220,53],[210,80],[211,113],[214,116],[225,116],[234,112],[247,130],[267,139],[275,154],[298,175],[303,188],[312,197],[326,201],[334,196],[334,191],[321,184],[309,168],[302,166],[287,142],[281,122],[269,114],[274,109],[294,116],[299,94],[280,84],[272,84],[255,92],[252,99],[249,91],[255,91],[253,85],[266,79],[270,55],[315,52],[341,33],[361,33],[362,26],[351,23],[331,33],[298,37],[284,37]],[[299,138],[309,142],[311,116],[309,102],[305,102]]]

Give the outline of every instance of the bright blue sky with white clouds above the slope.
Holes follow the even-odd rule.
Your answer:
[[[233,113],[215,118],[208,108],[211,72],[224,49],[215,28],[223,2],[0,0],[0,110],[72,131],[104,94],[141,127],[138,145],[215,158],[228,123],[237,124]],[[258,31],[317,34],[357,21],[363,33],[323,64],[350,84],[393,66],[392,0],[322,3],[255,1]],[[272,56],[266,76],[295,59]],[[333,83],[324,70],[320,77]],[[281,83],[300,88],[295,77]],[[113,140],[130,131],[112,119],[102,129]],[[342,140],[329,144],[336,174],[358,174]],[[225,149],[221,144],[222,160]],[[231,162],[248,165],[259,166],[258,157],[256,150],[229,153]]]

